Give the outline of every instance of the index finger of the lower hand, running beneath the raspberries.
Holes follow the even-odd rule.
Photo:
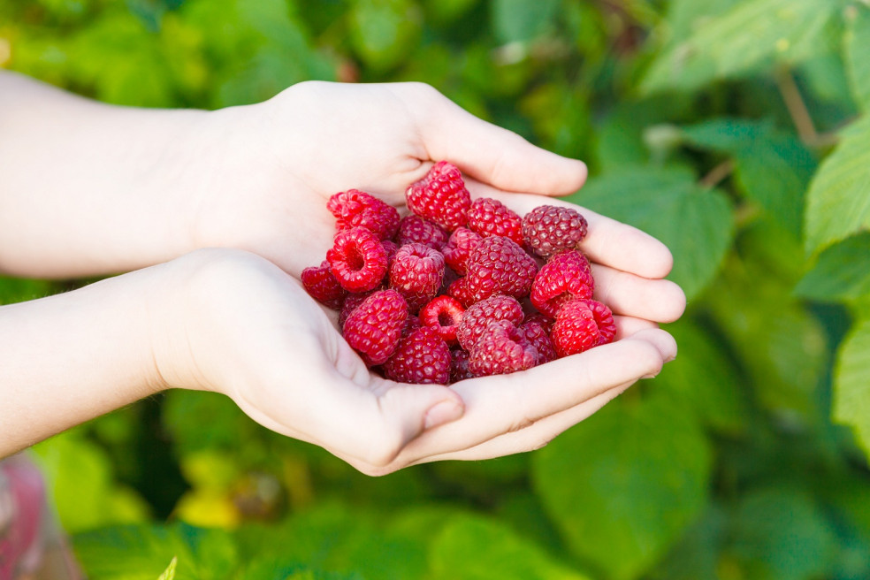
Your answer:
[[[399,459],[415,462],[468,449],[575,407],[614,385],[657,374],[666,356],[675,355],[670,343],[667,332],[645,330],[534,369],[456,383],[452,388],[465,401],[462,419],[424,432]]]

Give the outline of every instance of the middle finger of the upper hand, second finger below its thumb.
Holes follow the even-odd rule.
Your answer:
[[[683,316],[686,308],[683,288],[670,280],[641,278],[596,263],[592,264],[592,278],[593,297],[614,314],[668,323]]]

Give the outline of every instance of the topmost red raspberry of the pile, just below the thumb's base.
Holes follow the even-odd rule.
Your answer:
[[[423,179],[405,192],[408,210],[453,232],[468,222],[471,196],[462,173],[451,163],[439,161]]]

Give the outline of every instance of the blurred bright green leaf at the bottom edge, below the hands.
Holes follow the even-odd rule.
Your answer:
[[[587,580],[498,520],[460,515],[432,542],[432,580]]]

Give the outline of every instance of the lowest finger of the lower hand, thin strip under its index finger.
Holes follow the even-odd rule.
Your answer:
[[[630,381],[622,383],[622,385],[614,386],[604,393],[592,397],[589,401],[585,401],[575,407],[539,419],[534,424],[530,424],[528,427],[520,429],[519,431],[505,433],[495,439],[485,441],[480,445],[469,447],[468,449],[462,449],[462,451],[427,457],[421,461],[421,463],[447,460],[480,461],[495,457],[503,457],[505,455],[535,451],[546,446],[546,444],[564,431],[569,430],[574,425],[597,413],[601,408],[607,405],[607,403],[613,401],[631,385],[634,385],[635,382],[637,381]]]

